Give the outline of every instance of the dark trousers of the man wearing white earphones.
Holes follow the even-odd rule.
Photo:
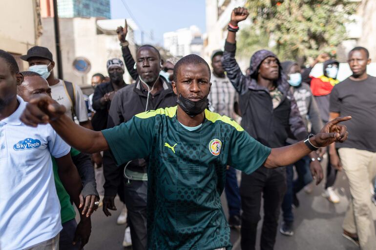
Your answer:
[[[128,223],[133,250],[146,250],[147,181],[124,181],[124,198],[128,210]]]

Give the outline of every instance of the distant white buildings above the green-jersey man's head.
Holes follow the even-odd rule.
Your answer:
[[[201,56],[203,43],[201,31],[195,25],[163,34],[164,48],[175,57],[189,54]]]

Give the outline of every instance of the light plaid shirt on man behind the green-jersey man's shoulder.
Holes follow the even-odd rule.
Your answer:
[[[212,83],[210,88],[209,109],[220,115],[229,116],[236,120],[237,115],[234,112],[234,103],[236,101],[236,90],[232,86],[228,77],[219,78],[211,74],[210,81]]]

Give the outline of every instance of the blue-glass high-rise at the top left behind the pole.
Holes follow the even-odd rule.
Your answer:
[[[60,18],[111,18],[110,0],[57,0]],[[43,18],[53,17],[53,0],[41,0]]]

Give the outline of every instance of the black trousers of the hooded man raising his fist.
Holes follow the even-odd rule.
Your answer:
[[[261,195],[264,198],[264,221],[261,232],[261,250],[273,250],[281,203],[286,192],[286,169],[258,168],[251,174],[242,174],[242,250],[254,250],[257,224],[260,217]]]

